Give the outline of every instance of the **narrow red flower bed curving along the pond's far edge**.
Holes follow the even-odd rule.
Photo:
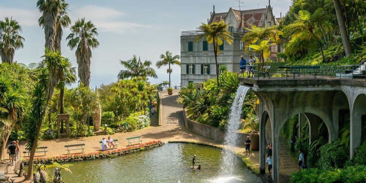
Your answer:
[[[94,159],[100,159],[100,158],[107,158],[107,157],[117,157],[121,156],[123,154],[130,154],[139,152],[141,150],[145,149],[151,149],[153,147],[160,147],[164,145],[164,142],[161,141],[152,141],[147,142],[144,144],[131,146],[131,147],[125,147],[115,150],[107,150],[107,151],[101,151],[101,152],[94,152],[94,153],[84,153],[84,154],[71,154],[66,156],[55,156],[55,157],[36,157],[34,158],[34,163],[64,163],[64,162],[72,162],[72,161],[83,161],[83,160],[94,160]],[[29,158],[26,158],[23,160],[24,164],[29,164]]]

